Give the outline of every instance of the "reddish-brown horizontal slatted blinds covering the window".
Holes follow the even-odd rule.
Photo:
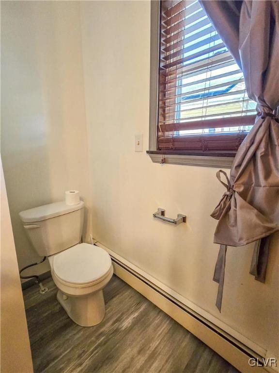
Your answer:
[[[158,150],[237,151],[256,103],[199,1],[160,2]]]

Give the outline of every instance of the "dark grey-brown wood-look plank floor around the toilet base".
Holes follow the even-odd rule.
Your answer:
[[[35,373],[238,373],[114,275],[105,319],[89,328],[69,319],[51,278],[44,285],[23,292]]]

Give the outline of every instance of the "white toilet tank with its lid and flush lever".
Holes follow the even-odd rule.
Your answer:
[[[56,202],[19,213],[31,243],[40,256],[59,253],[80,242],[84,203]]]

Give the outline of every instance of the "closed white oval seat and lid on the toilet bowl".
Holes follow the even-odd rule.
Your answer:
[[[111,259],[104,249],[80,243],[56,254],[52,268],[62,283],[87,287],[102,281],[109,274]]]

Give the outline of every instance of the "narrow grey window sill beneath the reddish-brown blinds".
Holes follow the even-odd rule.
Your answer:
[[[157,151],[146,152],[152,162],[161,163],[162,153]],[[185,155],[185,154],[164,154],[166,164],[190,165],[202,167],[223,167],[230,169],[233,164],[233,156],[209,156],[209,155]]]

